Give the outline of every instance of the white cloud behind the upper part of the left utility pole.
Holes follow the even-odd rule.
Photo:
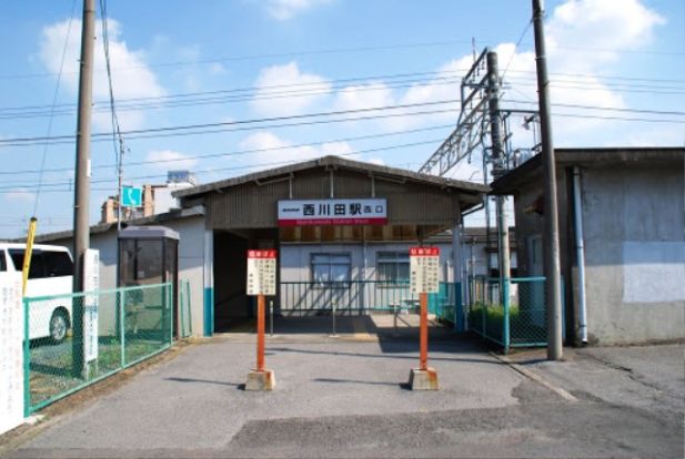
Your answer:
[[[94,50],[93,99],[108,101],[109,86],[107,72],[104,71],[105,62],[101,41],[101,22],[98,22],[98,40]],[[108,29],[114,98],[117,100],[124,100],[164,95],[164,89],[159,84],[155,74],[145,62],[144,52],[130,50],[125,41],[121,39],[120,23],[110,19]],[[52,73],[58,73],[60,70],[68,30],[69,20],[46,26],[42,30],[39,57],[46,69]],[[62,83],[74,95],[78,93],[79,85],[80,31],[81,21],[73,19],[62,73]],[[140,128],[144,122],[144,115],[140,111],[120,111],[118,114],[121,128],[124,130]],[[93,113],[93,123],[101,130],[111,129],[109,113]]]

